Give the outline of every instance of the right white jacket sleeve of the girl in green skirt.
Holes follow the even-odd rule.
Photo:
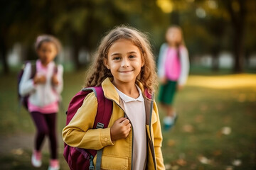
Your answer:
[[[178,78],[178,84],[184,85],[186,84],[186,80],[188,79],[189,72],[189,60],[188,60],[188,50],[186,47],[181,47],[181,74]]]

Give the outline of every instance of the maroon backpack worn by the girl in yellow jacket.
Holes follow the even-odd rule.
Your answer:
[[[90,94],[92,91],[95,93],[98,103],[97,114],[95,117],[95,123],[93,125],[93,128],[107,128],[108,124],[110,123],[110,117],[112,115],[113,103],[109,99],[105,98],[101,86],[87,87],[85,89],[82,89],[82,91],[79,91],[78,94],[76,94],[72,98],[68,106],[66,125],[70,123],[70,120],[78,111],[78,108],[82,106],[82,103],[87,94]],[[78,147],[70,147],[69,145],[64,143],[63,155],[66,162],[68,162],[68,166],[70,167],[70,169],[76,170],[94,169],[92,161],[97,154],[96,169],[100,169],[102,149],[82,149]]]

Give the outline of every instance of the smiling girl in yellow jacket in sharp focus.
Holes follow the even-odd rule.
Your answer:
[[[146,36],[134,28],[114,28],[102,39],[95,59],[85,86],[102,86],[105,97],[113,101],[110,123],[108,128],[92,129],[97,98],[90,93],[63,129],[64,142],[103,148],[101,169],[164,169],[153,96],[155,62]]]

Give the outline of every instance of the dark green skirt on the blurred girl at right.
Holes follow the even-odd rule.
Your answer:
[[[174,102],[177,81],[168,80],[166,84],[161,84],[159,88],[159,102],[171,105]]]

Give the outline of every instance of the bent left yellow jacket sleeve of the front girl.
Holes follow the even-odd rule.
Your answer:
[[[90,93],[73,119],[63,129],[64,142],[71,147],[97,150],[114,145],[110,137],[110,128],[92,129],[96,113],[97,98],[94,93]]]

